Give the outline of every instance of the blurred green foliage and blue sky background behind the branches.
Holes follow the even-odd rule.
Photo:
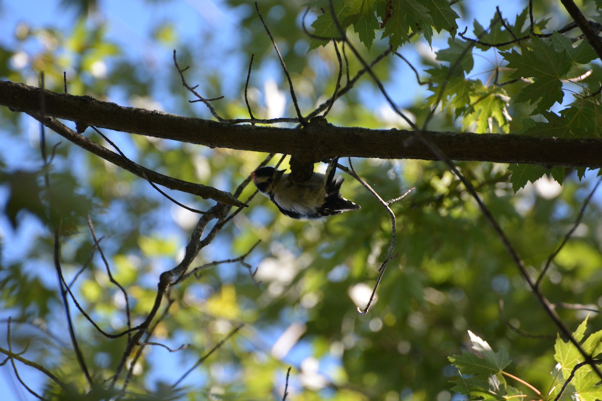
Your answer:
[[[19,20],[8,18],[15,4],[0,3],[0,20],[10,21],[2,28],[10,37],[0,40],[2,79],[37,85],[43,71],[46,88],[61,92],[66,72],[71,94],[211,118],[200,103],[188,102],[190,96],[173,67],[176,49],[180,65],[190,66],[188,82],[199,84],[197,90],[203,96],[225,96],[214,102],[216,110],[223,117],[238,118],[247,117],[243,89],[254,54],[249,90],[253,114],[259,118],[294,115],[284,74],[252,3],[135,1],[123,5],[123,13],[111,1],[46,3],[40,6],[43,10],[31,11],[31,18],[25,14]],[[309,112],[333,93],[338,63],[332,44],[308,52],[311,39],[302,29],[302,3],[262,0],[259,8],[291,73],[300,108]],[[471,25],[473,18],[480,18],[480,25],[489,26],[496,11],[493,3],[487,3],[457,2],[453,9],[461,17],[459,25]],[[507,3],[500,4],[500,9],[510,20],[528,5],[526,1]],[[582,6],[593,10],[591,4]],[[534,1],[533,7],[539,22],[550,18],[550,31],[569,22],[557,2]],[[140,20],[125,17],[132,15],[126,11],[139,13]],[[308,28],[318,14],[314,8],[305,16]],[[349,34],[366,60],[373,60],[388,46],[379,32],[370,51],[361,46],[353,29]],[[426,79],[425,69],[443,68],[434,51],[449,47],[448,37],[447,31],[434,32],[431,47],[417,35],[398,50]],[[500,87],[488,78],[501,64],[500,55],[492,49],[475,49],[475,54],[474,69],[470,76],[466,70],[465,81],[473,80],[473,85],[480,79],[475,91],[499,93]],[[348,58],[353,76],[360,66]],[[598,82],[600,66],[595,62],[591,68],[592,82]],[[408,64],[389,56],[374,72],[408,115],[419,124],[424,121],[429,112],[425,99],[433,91],[428,85],[418,85]],[[433,87],[436,90],[436,83]],[[519,87],[509,85],[504,87],[504,96],[514,98],[518,91]],[[563,104],[571,101],[565,99]],[[495,120],[483,129],[524,129],[523,118],[535,108],[505,100],[499,106],[507,108],[512,120]],[[26,349],[22,357],[69,382],[70,399],[77,399],[88,390],[67,335],[52,263],[51,222],[40,201],[46,195],[39,127],[7,108],[0,112],[5,143],[0,165],[2,321],[7,323],[11,316],[14,352]],[[474,108],[459,116],[448,104],[438,109],[428,128],[474,129],[478,118],[483,114]],[[328,119],[341,126],[407,127],[389,111],[367,78],[337,100]],[[86,135],[107,145],[89,130]],[[147,168],[224,191],[232,191],[265,156],[126,133],[107,135],[129,158]],[[140,323],[152,306],[160,273],[179,262],[197,216],[162,197],[146,181],[52,132],[46,132],[46,141],[48,149],[56,145],[48,169],[57,188],[55,199],[69,224],[69,235],[61,239],[67,281],[101,328],[119,332],[126,327],[123,294],[110,283],[98,249],[93,252],[92,224],[102,237],[102,251],[114,280],[128,293],[133,323]],[[544,393],[549,390],[557,329],[459,180],[440,162],[353,162],[385,199],[416,188],[392,206],[398,222],[394,251],[398,256],[389,263],[370,312],[360,316],[356,305],[363,308],[368,301],[391,236],[389,216],[377,201],[347,177],[343,195],[362,209],[325,221],[303,222],[282,216],[267,199],[256,197],[193,264],[238,257],[261,240],[246,258],[253,271],[257,269],[255,280],[240,263],[223,263],[172,287],[172,307],[152,339],[172,349],[189,345],[177,352],[147,346],[137,361],[127,397],[282,399],[287,369],[292,366],[288,399],[460,400],[462,396],[449,383],[458,371],[447,357],[467,344],[469,329],[492,346],[509,350],[513,360],[509,372]],[[562,187],[544,176],[514,194],[507,165],[462,162],[458,168],[533,275],[559,246],[599,180],[597,171],[588,171],[579,180],[576,171],[567,170]],[[247,187],[241,198],[253,189]],[[191,195],[170,195],[196,209],[211,206],[210,201]],[[543,292],[556,304],[588,305],[594,310],[601,306],[600,205],[600,195],[595,195],[543,282]],[[506,320],[500,316],[500,301]],[[84,358],[92,375],[102,382],[114,372],[126,339],[104,337],[75,308],[72,312]],[[561,307],[558,312],[571,328],[590,313]],[[240,323],[244,326],[236,334],[176,389],[171,387]],[[507,323],[551,337],[525,337]],[[591,316],[589,324],[600,328],[597,316]],[[8,331],[7,324],[2,331]],[[1,346],[7,348],[6,336],[0,337]],[[10,364],[0,369],[10,388],[8,399],[33,399],[16,381]],[[63,390],[35,369],[23,365],[18,369],[26,383],[48,399],[64,397]]]

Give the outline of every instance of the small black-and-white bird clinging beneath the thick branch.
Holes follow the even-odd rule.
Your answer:
[[[286,170],[259,167],[251,173],[262,195],[270,198],[285,216],[315,220],[359,209],[359,205],[341,196],[343,177],[335,177],[338,157],[332,158],[326,174],[312,173],[308,180],[294,182]]]

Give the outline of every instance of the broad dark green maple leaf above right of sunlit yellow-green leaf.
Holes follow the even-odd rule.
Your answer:
[[[512,78],[533,78],[532,84],[520,90],[515,98],[517,102],[537,104],[533,114],[544,112],[554,103],[562,102],[560,78],[571,67],[566,51],[555,51],[544,40],[533,38],[532,50],[523,48],[523,54],[513,50],[501,55],[508,61],[509,68],[516,69],[510,75]]]

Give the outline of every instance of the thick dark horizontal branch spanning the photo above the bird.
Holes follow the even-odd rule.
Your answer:
[[[311,123],[298,129],[232,125],[122,107],[89,96],[58,94],[47,90],[44,94],[46,116],[209,147],[310,155],[314,160],[334,156],[437,160],[429,147],[415,140],[414,131],[371,130],[330,124],[312,126]],[[39,88],[0,81],[0,105],[13,111],[38,113],[39,104]],[[467,132],[422,132],[421,135],[443,149],[449,159],[456,161],[602,166],[602,139]]]

